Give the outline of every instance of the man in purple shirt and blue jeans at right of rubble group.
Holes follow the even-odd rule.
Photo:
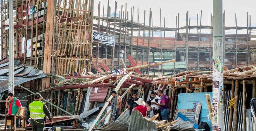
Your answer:
[[[156,103],[157,106],[160,106],[162,120],[168,120],[169,108],[168,108],[168,101],[169,97],[164,94],[164,92],[159,89],[158,96],[161,97],[160,103]]]

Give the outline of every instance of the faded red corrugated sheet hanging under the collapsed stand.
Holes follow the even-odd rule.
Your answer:
[[[93,88],[90,94],[90,102],[104,102],[107,96],[107,89],[108,88],[99,87],[97,93],[95,93],[95,88]]]

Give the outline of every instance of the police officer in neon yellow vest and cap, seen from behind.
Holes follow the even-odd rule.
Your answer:
[[[35,101],[29,104],[29,109],[26,114],[26,121],[31,118],[31,126],[33,131],[43,131],[44,128],[44,117],[45,115],[49,118],[52,124],[52,117],[47,106],[41,101],[42,96],[39,93],[35,94]]]

